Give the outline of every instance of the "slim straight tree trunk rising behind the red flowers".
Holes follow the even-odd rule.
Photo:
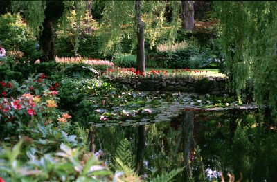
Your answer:
[[[142,0],[136,0],[136,35],[138,37],[138,45],[136,52],[136,71],[145,72],[145,55],[144,55],[144,29],[142,17]]]

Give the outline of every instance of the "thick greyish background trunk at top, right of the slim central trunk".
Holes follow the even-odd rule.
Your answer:
[[[181,19],[182,27],[186,30],[195,28],[195,9],[193,4],[195,1],[181,1]]]

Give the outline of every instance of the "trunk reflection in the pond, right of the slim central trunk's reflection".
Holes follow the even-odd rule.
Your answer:
[[[190,166],[190,152],[193,146],[193,111],[186,111],[183,125],[184,138],[184,181],[192,180],[192,169]]]

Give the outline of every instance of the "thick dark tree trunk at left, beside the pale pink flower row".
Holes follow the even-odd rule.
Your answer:
[[[44,30],[39,37],[39,45],[42,49],[41,62],[48,62],[55,60],[55,35],[53,32],[52,22],[48,19],[44,19]]]

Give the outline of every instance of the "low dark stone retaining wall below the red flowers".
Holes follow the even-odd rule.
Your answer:
[[[211,95],[224,95],[226,78],[221,77],[183,77],[183,78],[109,78],[110,82],[125,84],[129,88],[139,91],[181,91],[188,93],[202,93]]]

